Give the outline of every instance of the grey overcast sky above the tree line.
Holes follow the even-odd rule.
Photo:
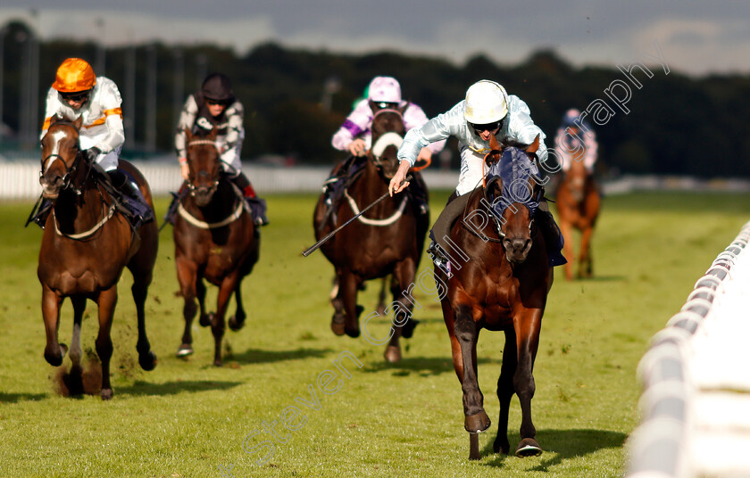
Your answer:
[[[212,42],[239,54],[273,40],[459,65],[474,54],[510,64],[554,48],[576,65],[613,68],[653,55],[655,41],[671,70],[750,73],[748,0],[2,0],[0,24],[13,18],[46,40]]]

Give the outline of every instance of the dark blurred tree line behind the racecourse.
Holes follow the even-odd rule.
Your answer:
[[[11,35],[4,36],[2,119],[12,129],[19,124],[24,54]],[[93,43],[54,41],[39,45],[39,122],[60,62],[78,56],[96,70],[96,59],[101,58],[97,54],[104,55],[104,76],[120,87],[123,114],[132,121],[126,156],[154,146],[171,152],[175,115],[187,95],[213,71],[232,79],[237,97],[245,104],[244,158],[280,155],[297,163],[319,164],[342,157],[331,147],[330,136],[373,76],[396,77],[404,99],[420,104],[429,117],[460,101],[474,81],[490,78],[529,104],[533,119],[546,132],[548,146],[564,111],[585,110],[596,99],[608,103],[612,118],[594,128],[600,162],[610,171],[750,177],[747,74],[690,78],[673,69],[665,75],[658,64],[648,65],[654,76],[635,73],[643,87],[631,87],[626,114],[604,94],[613,80],[626,79],[615,65],[575,68],[552,51],[537,52],[512,66],[481,55],[456,66],[438,58],[387,52],[335,54],[275,44],[259,45],[237,56],[231,49],[213,45],[133,45],[104,51]],[[148,119],[150,111],[155,121]],[[154,124],[155,136],[149,131]],[[454,142],[448,147],[456,166]]]

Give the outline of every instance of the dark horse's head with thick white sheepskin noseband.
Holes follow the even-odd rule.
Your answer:
[[[369,153],[370,161],[378,169],[380,177],[384,180],[390,179],[396,174],[398,160],[396,152],[404,142],[404,105],[397,109],[379,109],[376,103],[371,102],[375,117],[372,119],[372,147]]]

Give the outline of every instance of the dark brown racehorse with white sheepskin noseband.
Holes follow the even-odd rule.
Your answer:
[[[333,213],[328,216],[325,195],[321,194],[318,200],[312,221],[316,239],[328,235],[387,194],[388,182],[398,168],[396,152],[405,133],[404,109],[375,112],[371,126],[372,148],[367,152],[360,176],[344,191],[346,201],[335,203]],[[415,181],[421,181],[419,173],[412,174]],[[404,315],[399,317],[406,318],[392,321],[394,326],[389,332],[390,340],[384,354],[389,362],[401,359],[399,338],[402,335],[411,337],[415,325],[414,319],[410,318],[413,300],[408,294],[427,234],[429,218],[424,216],[418,214],[409,195],[388,197],[321,247],[336,271],[336,286],[331,293],[334,308],[331,329],[334,334],[358,337],[359,316],[363,308],[357,305],[357,291],[362,289],[364,281],[393,275],[390,291],[394,302],[393,307],[386,310],[388,313],[396,310],[395,316],[398,311],[403,312]]]

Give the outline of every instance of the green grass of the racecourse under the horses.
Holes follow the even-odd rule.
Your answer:
[[[446,194],[434,194],[433,216]],[[417,294],[423,309],[404,359],[383,362],[383,346],[336,337],[329,329],[332,268],[320,252],[301,256],[312,237],[312,195],[268,198],[271,226],[262,232],[261,260],[243,283],[246,327],[226,336],[225,366],[212,367],[212,336],[196,326],[196,353],[175,351],[182,302],[171,229],[162,231],[154,284],[146,303],[149,338],[159,365],[137,367],[131,279],[123,275],[112,337],[114,399],[65,399],[54,392],[54,367],[43,358],[41,287],[36,277],[36,227],[23,228],[30,203],[0,204],[0,476],[617,476],[623,444],[637,425],[635,371],[650,337],[679,310],[699,276],[747,220],[750,198],[724,194],[637,194],[604,199],[594,236],[596,278],[567,283],[562,269],[549,298],[535,367],[532,401],[541,457],[496,456],[495,396],[504,338],[479,339],[479,383],[493,419],[479,437],[482,459],[467,460],[461,387],[450,360],[437,301]],[[161,215],[166,199],[157,202]],[[429,267],[423,260],[421,269]],[[362,294],[375,306],[377,284]],[[209,288],[209,303],[216,289]],[[213,306],[212,306],[213,308]],[[230,311],[233,310],[231,306]],[[94,318],[92,318],[94,317]],[[70,343],[72,310],[63,308],[60,339]],[[385,334],[384,321],[373,326]],[[93,348],[96,307],[83,322]],[[336,370],[345,351],[362,361],[334,394],[317,377]],[[69,365],[66,359],[66,366]],[[336,382],[334,382],[336,383]],[[312,384],[320,409],[305,408]],[[262,422],[295,405],[304,426],[282,436],[265,465],[242,448]],[[518,441],[521,412],[511,409]],[[277,424],[277,430],[285,430]],[[254,437],[248,448],[270,439]],[[225,474],[229,476],[229,474]]]

